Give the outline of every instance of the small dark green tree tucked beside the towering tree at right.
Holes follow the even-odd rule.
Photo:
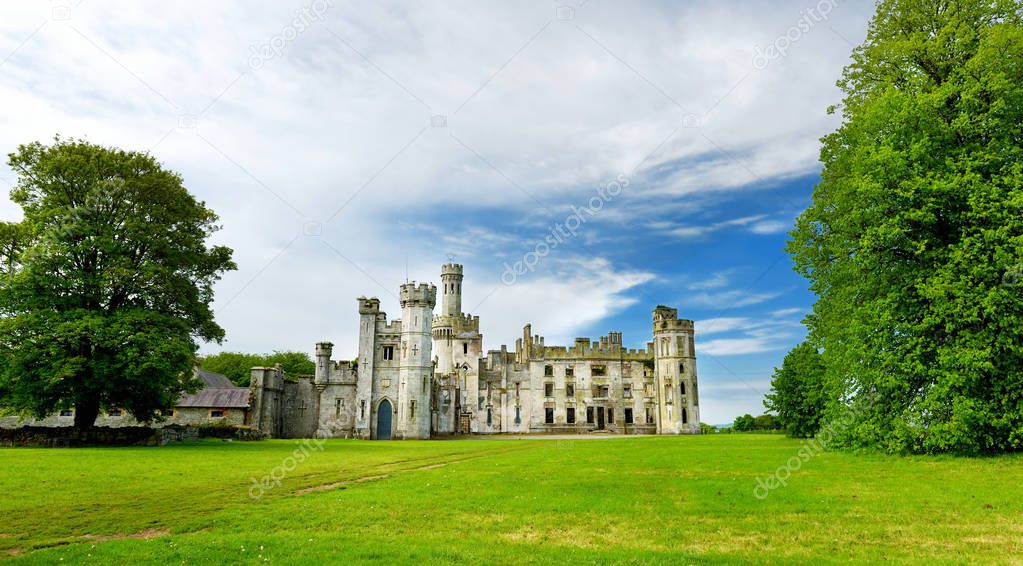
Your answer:
[[[806,438],[820,430],[830,399],[822,356],[809,342],[789,351],[774,368],[764,407],[777,413],[790,436]]]

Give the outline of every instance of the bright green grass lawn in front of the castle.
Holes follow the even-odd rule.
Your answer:
[[[26,563],[1023,563],[1023,458],[827,452],[765,498],[777,435],[198,441],[0,449]],[[294,466],[293,466],[294,465]],[[280,467],[280,468],[278,468]],[[279,485],[252,478],[294,469]],[[276,471],[275,471],[276,468]]]

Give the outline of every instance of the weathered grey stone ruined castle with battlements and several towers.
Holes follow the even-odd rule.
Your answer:
[[[314,378],[253,368],[249,422],[275,437],[416,439],[451,434],[695,434],[700,402],[693,321],[654,309],[647,349],[622,334],[547,346],[527,324],[515,351],[484,354],[480,317],[461,311],[462,266],[438,288],[401,286],[401,318],[359,298],[358,359],[316,344]]]

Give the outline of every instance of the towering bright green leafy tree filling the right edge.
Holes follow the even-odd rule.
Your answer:
[[[1023,447],[1023,29],[1011,0],[881,0],[789,251],[838,441]]]

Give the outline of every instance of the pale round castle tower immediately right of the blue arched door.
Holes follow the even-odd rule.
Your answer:
[[[458,266],[459,271],[461,266]],[[459,275],[460,279],[460,275]],[[398,369],[398,438],[430,438],[433,389],[433,319],[437,287],[401,286],[401,352]],[[361,367],[360,375],[361,375]]]

